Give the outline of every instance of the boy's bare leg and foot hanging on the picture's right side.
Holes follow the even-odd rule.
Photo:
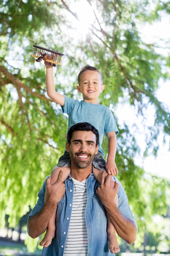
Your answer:
[[[96,168],[94,168],[93,171],[94,171],[94,175],[95,175],[96,180],[101,184],[102,171],[99,171]],[[107,175],[108,174],[106,173],[106,176]],[[112,178],[110,180],[110,186],[114,187],[115,186],[114,183],[115,183],[115,181]],[[118,204],[119,204],[118,196],[116,196],[116,198],[115,198],[115,204],[118,207]],[[117,242],[117,237],[116,237],[116,234],[115,234],[115,227],[113,226],[112,222],[110,221],[110,217],[108,215],[107,215],[107,234],[108,234],[110,252],[112,252],[112,253],[120,252],[120,248],[119,248],[119,245],[118,245],[118,242]]]

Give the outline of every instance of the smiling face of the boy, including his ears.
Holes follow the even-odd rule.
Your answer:
[[[101,75],[97,71],[86,70],[79,79],[77,90],[82,93],[83,99],[87,101],[97,100],[99,94],[104,90]]]

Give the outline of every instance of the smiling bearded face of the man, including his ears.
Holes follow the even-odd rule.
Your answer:
[[[75,131],[71,138],[71,144],[66,144],[66,150],[70,153],[71,162],[78,168],[86,168],[97,154],[96,135],[92,132]]]

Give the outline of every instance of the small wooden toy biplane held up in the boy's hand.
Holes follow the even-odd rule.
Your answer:
[[[55,52],[53,50],[46,49],[44,47],[40,47],[38,45],[33,45],[35,47],[34,54],[31,54],[34,58],[37,58],[36,61],[40,62],[42,60],[47,61],[50,65],[54,67],[56,65],[61,65],[60,61],[63,53],[59,52],[58,50]]]

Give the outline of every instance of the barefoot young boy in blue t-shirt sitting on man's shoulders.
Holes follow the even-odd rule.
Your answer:
[[[94,176],[101,184],[102,171],[107,171],[108,174],[116,175],[118,173],[117,166],[115,164],[115,154],[117,147],[116,135],[118,129],[115,123],[112,112],[104,105],[100,105],[98,102],[99,94],[104,90],[102,73],[95,67],[86,65],[82,68],[78,75],[77,90],[82,93],[83,100],[78,101],[68,98],[55,91],[53,83],[53,66],[48,62],[44,62],[46,66],[46,91],[48,96],[57,104],[62,106],[62,111],[68,114],[68,130],[74,124],[80,122],[91,123],[99,131],[99,149],[95,159],[93,161]],[[104,150],[102,149],[102,141],[104,133],[108,137],[108,157],[107,162],[104,159]],[[70,157],[69,153],[65,152],[59,159],[59,163],[53,169],[51,173],[51,183],[53,184],[57,180],[57,176],[62,167],[63,181],[66,180],[70,173],[69,165]],[[60,167],[59,167],[60,166]],[[106,175],[107,175],[106,173]],[[114,187],[114,180],[112,180],[111,186]],[[46,200],[46,199],[45,199]],[[118,198],[116,202],[118,206]],[[40,245],[48,247],[51,244],[52,238],[55,236],[55,215],[51,217],[48,225],[48,229]],[[120,251],[115,234],[115,227],[107,218],[107,234],[109,240],[109,249],[112,253]]]

